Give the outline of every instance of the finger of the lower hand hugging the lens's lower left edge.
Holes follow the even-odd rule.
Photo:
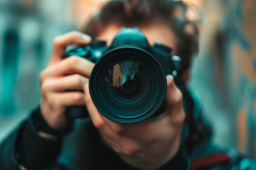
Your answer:
[[[99,130],[104,131],[104,128],[106,127],[105,121],[102,119],[99,111],[94,106],[91,95],[89,93],[89,86],[88,84],[84,85],[84,93],[85,93],[85,104],[86,108],[88,110],[88,113],[91,117],[91,121],[93,122],[93,125],[98,128]]]

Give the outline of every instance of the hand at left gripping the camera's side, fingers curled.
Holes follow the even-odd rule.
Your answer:
[[[69,44],[86,45],[91,37],[80,32],[70,32],[55,38],[53,52],[47,68],[40,75],[41,112],[48,125],[62,128],[68,123],[65,115],[67,107],[85,105],[83,86],[94,63],[81,57],[62,59]],[[44,132],[41,136],[53,137]]]

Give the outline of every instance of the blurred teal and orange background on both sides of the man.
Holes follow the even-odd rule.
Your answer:
[[[103,1],[0,0],[0,142],[38,105],[54,37],[79,30]],[[189,86],[213,140],[256,159],[256,1],[184,1],[200,18]]]

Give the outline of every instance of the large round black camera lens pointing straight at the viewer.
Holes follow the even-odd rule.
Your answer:
[[[136,46],[108,51],[94,66],[89,90],[98,111],[119,123],[136,123],[164,102],[166,78],[158,61]]]

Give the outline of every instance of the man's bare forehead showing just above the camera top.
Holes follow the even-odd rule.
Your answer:
[[[121,26],[117,24],[109,24],[96,37],[96,39],[106,40],[110,44],[119,31]],[[129,26],[133,27],[133,26]],[[148,42],[153,45],[159,41],[173,49],[172,54],[176,53],[177,37],[175,36],[171,27],[162,21],[154,21],[148,25],[137,26],[146,35]]]

